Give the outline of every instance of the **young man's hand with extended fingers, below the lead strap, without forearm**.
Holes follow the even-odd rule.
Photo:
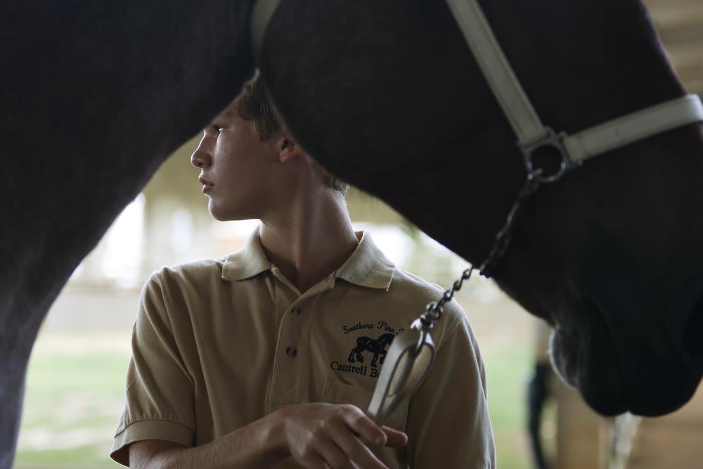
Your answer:
[[[351,404],[296,404],[280,409],[285,449],[311,469],[387,469],[364,442],[405,446],[403,432],[379,427]]]

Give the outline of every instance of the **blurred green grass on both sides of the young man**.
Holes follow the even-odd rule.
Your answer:
[[[37,347],[32,355],[15,468],[120,467],[107,455],[124,402],[129,352],[81,352],[86,347],[63,349],[60,343]],[[523,428],[531,345],[482,342],[482,350],[499,467],[529,468]]]

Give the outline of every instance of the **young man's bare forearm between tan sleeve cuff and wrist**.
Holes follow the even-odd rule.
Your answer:
[[[288,456],[280,434],[280,419],[273,413],[193,448],[163,451],[130,448],[130,466],[136,469],[270,468]]]

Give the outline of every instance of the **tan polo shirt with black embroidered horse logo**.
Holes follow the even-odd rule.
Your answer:
[[[129,465],[143,439],[205,444],[283,406],[346,403],[366,411],[382,354],[441,289],[396,269],[371,240],[301,293],[266,258],[258,229],[224,259],[165,267],[143,288],[127,403],[110,456]],[[452,301],[432,330],[437,359],[388,425],[406,448],[389,468],[493,468],[484,364]],[[288,458],[276,468],[298,468]]]

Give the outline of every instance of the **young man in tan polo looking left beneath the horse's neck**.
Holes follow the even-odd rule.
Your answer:
[[[441,290],[354,232],[346,187],[281,127],[260,79],[191,162],[215,219],[262,222],[228,257],[146,283],[110,456],[132,468],[493,468],[484,365],[455,301],[419,390],[389,427],[364,414],[389,343]]]

